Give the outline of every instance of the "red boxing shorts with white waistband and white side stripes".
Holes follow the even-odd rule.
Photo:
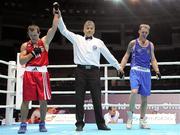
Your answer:
[[[26,67],[23,75],[23,101],[50,99],[51,87],[47,67]]]

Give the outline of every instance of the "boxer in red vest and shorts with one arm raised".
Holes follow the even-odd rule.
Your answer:
[[[57,3],[56,3],[57,4]],[[28,27],[29,41],[21,45],[19,55],[20,64],[25,64],[23,76],[23,102],[21,105],[21,124],[18,134],[24,134],[27,130],[27,115],[29,101],[38,100],[40,104],[39,131],[47,132],[45,116],[47,112],[47,100],[51,99],[50,79],[47,71],[49,44],[53,39],[58,25],[59,9],[53,8],[53,24],[47,34],[40,38],[40,29],[37,25]]]

